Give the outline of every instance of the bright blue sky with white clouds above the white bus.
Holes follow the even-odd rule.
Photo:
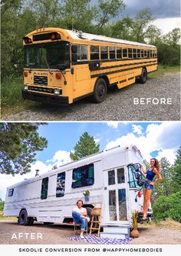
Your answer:
[[[51,170],[54,164],[61,166],[71,161],[70,151],[82,133],[87,131],[97,143],[100,150],[107,148],[136,145],[147,161],[150,157],[160,160],[166,157],[174,163],[176,150],[181,146],[181,122],[107,122],[107,123],[48,123],[39,127],[39,133],[48,140],[48,147],[37,153],[35,163],[31,164],[31,173],[25,175],[0,174],[0,197],[5,199],[6,187],[25,178]]]

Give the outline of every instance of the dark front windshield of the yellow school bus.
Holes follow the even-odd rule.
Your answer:
[[[58,69],[58,64],[70,67],[69,42],[53,42],[25,46],[25,68]]]

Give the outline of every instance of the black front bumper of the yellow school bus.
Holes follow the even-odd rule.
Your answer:
[[[68,97],[64,96],[56,96],[56,95],[44,95],[41,93],[35,93],[35,92],[28,92],[25,90],[22,90],[22,97],[23,99],[30,99],[34,101],[38,101],[41,103],[50,103],[55,105],[61,105],[61,106],[67,106],[68,103]]]

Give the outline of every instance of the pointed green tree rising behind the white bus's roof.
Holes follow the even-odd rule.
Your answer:
[[[95,143],[94,136],[90,136],[87,132],[83,133],[79,141],[74,146],[74,153],[70,153],[71,160],[79,160],[93,153],[99,152],[100,145]]]

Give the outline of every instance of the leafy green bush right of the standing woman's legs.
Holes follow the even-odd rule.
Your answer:
[[[166,196],[160,196],[153,204],[153,214],[156,220],[172,218],[181,222],[181,191]]]

